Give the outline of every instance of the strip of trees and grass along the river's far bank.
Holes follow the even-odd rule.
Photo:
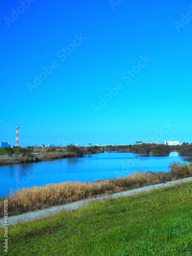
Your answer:
[[[50,161],[55,159],[67,158],[67,157],[82,157],[87,154],[97,154],[110,151],[126,151],[133,152],[136,154],[169,154],[173,150],[179,151],[180,156],[191,156],[192,157],[192,144],[190,145],[178,145],[169,146],[164,144],[146,144],[142,143],[139,145],[108,145],[103,147],[89,146],[89,147],[76,147],[68,145],[65,148],[59,147],[48,147],[36,148],[36,152],[32,152],[28,148],[0,148],[0,154],[8,154],[8,156],[0,157],[0,166],[6,164],[19,164],[19,163],[31,163],[39,161]],[[41,151],[41,152],[40,152]],[[38,154],[35,154],[38,153]],[[20,154],[21,156],[14,156],[13,154]]]

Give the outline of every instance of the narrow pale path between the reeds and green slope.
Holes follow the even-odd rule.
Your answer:
[[[77,202],[66,204],[66,205],[54,206],[54,207],[44,209],[44,210],[31,211],[31,212],[27,212],[26,214],[8,217],[8,224],[9,225],[14,225],[18,222],[29,222],[29,221],[32,221],[32,220],[35,220],[35,219],[44,218],[46,216],[55,215],[58,212],[63,211],[63,210],[76,210],[76,209],[78,209],[78,208],[80,208],[84,205],[88,205],[90,202],[94,202],[94,201],[98,201],[98,200],[102,201],[102,200],[105,200],[105,199],[117,198],[117,197],[121,197],[121,196],[127,197],[127,196],[131,196],[131,195],[134,195],[134,194],[147,192],[147,191],[150,191],[150,190],[153,190],[153,189],[158,189],[160,187],[167,187],[167,186],[171,186],[171,185],[175,185],[175,184],[179,184],[179,183],[183,183],[183,182],[187,182],[187,181],[192,181],[192,177],[184,178],[184,179],[180,179],[180,180],[175,180],[175,181],[169,181],[169,182],[164,183],[164,184],[156,184],[156,185],[152,185],[152,186],[136,188],[136,189],[132,189],[132,190],[112,194],[112,195],[109,195],[109,196],[102,196],[102,197],[98,197],[98,198],[85,199],[85,200],[77,201]],[[4,221],[3,218],[1,218],[0,219],[0,227],[3,227],[4,224],[5,224],[5,221]]]

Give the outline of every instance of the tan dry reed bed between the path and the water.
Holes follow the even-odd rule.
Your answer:
[[[61,182],[58,184],[47,184],[45,186],[34,186],[13,191],[9,197],[0,199],[0,212],[3,216],[4,200],[8,200],[9,216],[20,214],[35,209],[42,209],[50,206],[66,204],[101,194],[117,193],[147,185],[161,182],[162,176],[166,181],[187,176],[175,176],[173,172],[142,172],[114,178],[96,180],[94,182]]]

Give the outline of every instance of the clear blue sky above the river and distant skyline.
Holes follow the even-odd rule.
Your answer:
[[[22,2],[0,4],[0,141],[192,141],[191,1]]]

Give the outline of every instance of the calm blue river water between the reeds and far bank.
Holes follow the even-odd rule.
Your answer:
[[[0,194],[9,195],[16,188],[41,186],[62,181],[93,181],[133,174],[138,169],[167,172],[172,161],[189,164],[191,157],[170,154],[134,154],[111,152],[66,158],[32,164],[15,164],[0,167]]]

